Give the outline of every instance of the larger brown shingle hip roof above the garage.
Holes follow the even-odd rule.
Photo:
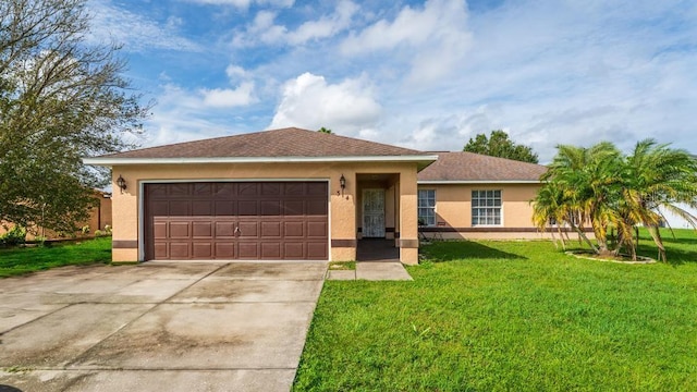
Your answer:
[[[289,127],[105,155],[99,158],[370,157],[428,152]]]

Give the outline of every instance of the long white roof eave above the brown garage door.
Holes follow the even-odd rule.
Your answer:
[[[83,158],[90,166],[114,167],[131,164],[203,164],[203,163],[321,163],[321,162],[416,162],[430,163],[436,155],[357,156],[357,157],[212,157],[212,158]]]

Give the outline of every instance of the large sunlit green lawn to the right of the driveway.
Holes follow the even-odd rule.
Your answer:
[[[294,390],[697,390],[697,235],[677,234],[672,265],[440,242],[413,282],[327,281]]]

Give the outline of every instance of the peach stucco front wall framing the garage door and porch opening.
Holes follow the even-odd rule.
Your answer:
[[[142,213],[140,191],[144,182],[167,181],[234,181],[234,180],[325,180],[329,182],[330,242],[342,246],[331,246],[331,260],[354,260],[356,257],[356,191],[357,173],[395,173],[411,179],[413,189],[402,194],[402,213],[416,217],[416,164],[415,163],[236,163],[236,164],[151,164],[117,166],[113,173],[113,260],[142,260],[143,246],[139,234]],[[343,191],[339,177],[344,175],[346,188]],[[121,193],[115,179],[123,176],[126,191]],[[406,200],[406,201],[405,201]],[[411,222],[411,223],[409,223]],[[416,221],[407,221],[408,238],[417,238]],[[348,244],[348,246],[346,246]],[[416,262],[417,255],[406,254],[403,262]]]

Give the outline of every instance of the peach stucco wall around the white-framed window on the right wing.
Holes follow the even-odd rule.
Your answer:
[[[539,184],[419,185],[436,191],[436,230],[444,238],[537,238],[529,203]],[[472,191],[501,191],[501,225],[472,224]],[[427,230],[427,235],[433,235]]]

